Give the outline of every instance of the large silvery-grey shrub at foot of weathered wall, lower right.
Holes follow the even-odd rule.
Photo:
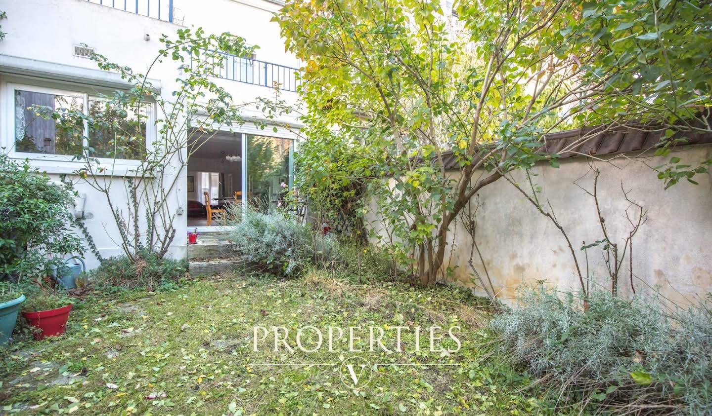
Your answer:
[[[526,289],[491,327],[504,353],[548,378],[562,407],[709,410],[712,311],[706,304],[666,314],[658,299],[592,291],[587,301],[584,311],[572,294],[562,299],[543,287]]]

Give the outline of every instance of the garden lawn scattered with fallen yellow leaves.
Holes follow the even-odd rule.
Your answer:
[[[65,336],[4,351],[0,409],[81,415],[543,412],[526,390],[515,393],[528,380],[496,356],[483,359],[488,335],[480,328],[487,316],[475,300],[449,287],[347,284],[319,272],[286,282],[212,278],[168,292],[88,299],[72,311]],[[253,352],[254,325],[310,325],[325,335],[328,326],[459,325],[462,348],[429,353],[424,336],[419,353],[329,353],[326,346],[315,353],[273,352],[271,340]],[[412,342],[412,334],[403,336],[404,345]],[[448,338],[443,345],[454,343]],[[389,365],[377,366],[360,390],[342,383],[335,366],[258,366],[340,363],[350,356]],[[414,363],[454,365],[391,365]]]

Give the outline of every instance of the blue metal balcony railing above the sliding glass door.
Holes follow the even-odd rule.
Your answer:
[[[278,87],[280,90],[286,91],[296,91],[301,83],[297,68],[243,58],[230,53],[219,53],[219,55],[224,58],[220,68],[215,70],[217,78],[263,85],[264,87]]]

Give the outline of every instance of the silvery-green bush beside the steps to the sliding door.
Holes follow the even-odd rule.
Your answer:
[[[313,262],[315,245],[307,225],[277,211],[237,207],[229,215],[232,223],[229,249],[248,267],[295,277]]]

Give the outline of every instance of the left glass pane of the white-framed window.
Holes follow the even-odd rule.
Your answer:
[[[84,99],[70,95],[45,94],[43,92],[15,91],[15,149],[29,153],[82,154],[83,131],[63,128],[53,119],[44,119],[32,110],[32,106],[48,107],[51,110],[84,109]]]

